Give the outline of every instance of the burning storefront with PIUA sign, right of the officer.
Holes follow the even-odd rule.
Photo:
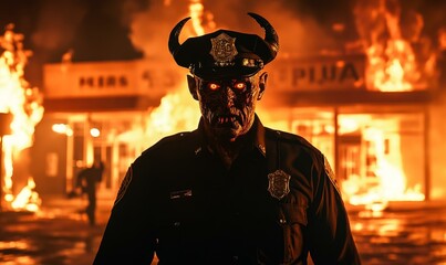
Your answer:
[[[365,68],[360,55],[282,59],[269,71],[267,124],[317,146],[352,204],[446,199],[444,89],[378,91]]]

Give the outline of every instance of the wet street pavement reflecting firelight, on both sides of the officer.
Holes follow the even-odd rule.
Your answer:
[[[89,265],[101,242],[114,195],[100,195],[97,225],[86,199],[43,197],[41,211],[0,212],[0,264]],[[446,203],[394,203],[383,212],[349,206],[365,265],[446,265]]]

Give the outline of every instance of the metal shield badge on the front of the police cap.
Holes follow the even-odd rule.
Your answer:
[[[221,33],[216,38],[210,39],[212,47],[210,55],[215,60],[217,66],[228,66],[234,64],[234,57],[238,54],[236,49],[236,38]]]

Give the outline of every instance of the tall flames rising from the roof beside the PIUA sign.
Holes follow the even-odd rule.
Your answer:
[[[429,67],[417,65],[411,45],[421,39],[423,18],[414,15],[412,40],[405,40],[400,26],[402,10],[397,1],[361,0],[355,8],[356,24],[369,57],[366,70],[367,87],[382,92],[407,92],[425,88],[424,71]],[[429,65],[432,59],[424,63]],[[432,72],[432,71],[431,71]],[[428,74],[428,73],[427,73]]]

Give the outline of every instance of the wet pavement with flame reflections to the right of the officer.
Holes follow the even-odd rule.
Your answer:
[[[425,205],[351,213],[364,264],[446,264],[446,209]]]

